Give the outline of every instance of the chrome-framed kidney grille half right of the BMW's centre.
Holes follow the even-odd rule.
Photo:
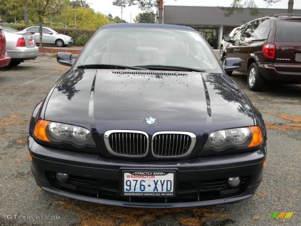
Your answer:
[[[189,155],[195,144],[194,133],[163,131],[154,133],[152,152],[157,157]]]

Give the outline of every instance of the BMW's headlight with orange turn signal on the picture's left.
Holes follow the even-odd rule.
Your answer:
[[[76,146],[93,145],[94,140],[89,130],[65,123],[38,120],[34,129],[36,138],[54,143],[69,142]]]

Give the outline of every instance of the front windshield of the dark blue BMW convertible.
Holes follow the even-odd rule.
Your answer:
[[[75,67],[87,64],[165,65],[222,73],[216,56],[199,33],[166,28],[102,29],[82,50]]]

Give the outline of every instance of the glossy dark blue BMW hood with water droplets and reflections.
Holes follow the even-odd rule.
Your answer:
[[[155,117],[154,127],[144,118]],[[254,125],[244,93],[224,74],[71,70],[53,89],[45,120],[97,130],[188,131]]]

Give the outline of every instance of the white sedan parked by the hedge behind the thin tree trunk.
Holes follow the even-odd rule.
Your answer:
[[[35,32],[36,43],[40,43],[40,27],[28,27],[23,31]],[[73,38],[67,35],[59,34],[49,27],[43,27],[42,42],[43,44],[55,44],[57,47],[73,45]]]

